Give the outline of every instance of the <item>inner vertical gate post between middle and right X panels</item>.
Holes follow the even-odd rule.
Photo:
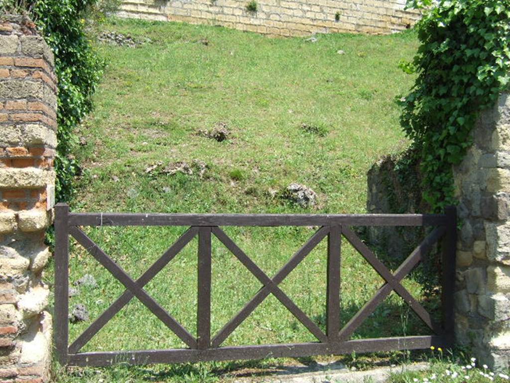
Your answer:
[[[342,230],[338,225],[331,226],[327,235],[326,335],[328,342],[338,341],[340,332],[341,235]]]

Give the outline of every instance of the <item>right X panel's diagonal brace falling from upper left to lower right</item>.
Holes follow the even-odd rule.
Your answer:
[[[439,229],[436,229],[436,230],[439,230]],[[433,232],[434,233],[434,232]],[[438,234],[437,231],[435,231],[435,235]],[[395,293],[397,293],[407,304],[409,304],[409,306],[413,309],[413,311],[418,315],[418,317],[420,317],[420,319],[432,330],[434,331],[436,334],[441,334],[443,331],[442,331],[442,328],[440,325],[438,325],[437,323],[435,323],[432,318],[430,317],[430,314],[427,313],[427,311],[425,310],[425,308],[409,293],[409,291],[407,291],[404,286],[402,286],[400,284],[400,280],[403,279],[403,277],[405,276],[402,276],[400,279],[397,279],[397,277],[400,277],[400,275],[398,276],[395,276],[393,275],[390,270],[388,270],[388,268],[382,264],[382,262],[372,253],[372,251],[367,247],[367,245],[365,245],[361,240],[360,238],[354,234],[352,232],[352,230],[350,230],[349,228],[347,227],[342,227],[342,234],[345,236],[345,238],[347,239],[347,241],[349,241],[349,243],[356,249],[360,252],[360,254],[369,262],[369,264],[374,268],[374,270],[387,282],[376,294],[377,296],[375,298],[373,298],[374,302],[376,302],[376,300],[381,300],[381,297],[388,293],[388,295],[391,293],[392,290],[395,291]],[[430,238],[430,236],[429,236]],[[431,245],[430,245],[431,246]],[[421,254],[421,252],[420,252]],[[414,253],[414,257],[417,257],[418,255],[416,253]],[[411,264],[411,261],[414,261],[414,258],[413,256],[410,257],[411,259],[407,259],[409,260],[409,264]],[[406,261],[407,261],[406,260]],[[406,265],[407,266],[407,265]],[[400,270],[400,273],[402,272],[403,269]],[[382,292],[381,292],[382,290]],[[384,299],[384,298],[382,298]],[[369,308],[373,311],[373,309],[375,309],[376,305],[373,306],[373,303],[369,302],[366,306],[369,306]],[[373,306],[373,308],[372,308]],[[363,307],[363,309],[365,310],[365,315],[367,314],[368,312],[368,307]],[[370,314],[370,312],[368,312],[368,314]],[[352,325],[352,324],[351,324]],[[342,332],[344,332],[344,330],[341,331],[341,334]],[[351,332],[352,333],[352,332]],[[346,337],[346,334],[347,334],[347,331],[345,331],[342,336],[343,338]]]

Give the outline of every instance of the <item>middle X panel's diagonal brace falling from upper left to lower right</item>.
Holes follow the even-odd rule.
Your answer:
[[[225,247],[236,256],[237,259],[272,293],[287,309],[321,342],[326,342],[327,337],[302,310],[267,276],[247,255],[244,253],[223,230],[213,227],[213,234]]]

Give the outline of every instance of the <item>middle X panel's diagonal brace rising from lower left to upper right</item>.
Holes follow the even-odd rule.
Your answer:
[[[304,244],[271,279],[275,285],[281,283],[294,268],[304,259],[328,234],[328,227],[321,227],[311,238]],[[216,235],[216,233],[215,233]],[[266,276],[267,277],[267,276]],[[264,286],[259,292],[240,310],[237,315],[228,321],[227,324],[216,334],[211,342],[212,347],[216,348],[253,312],[254,309],[271,293],[269,286]],[[294,314],[294,313],[293,313]],[[321,331],[322,332],[322,331]]]

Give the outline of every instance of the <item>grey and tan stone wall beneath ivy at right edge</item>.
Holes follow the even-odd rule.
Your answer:
[[[454,169],[458,217],[456,338],[496,368],[510,355],[510,97],[484,113]]]

